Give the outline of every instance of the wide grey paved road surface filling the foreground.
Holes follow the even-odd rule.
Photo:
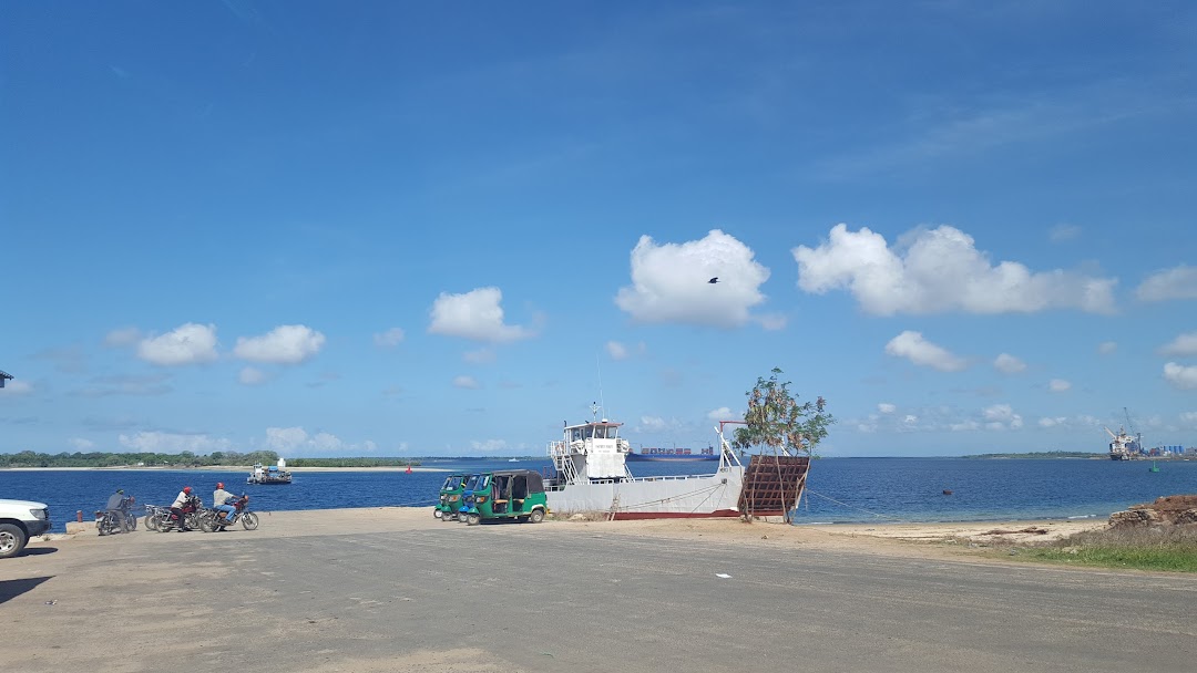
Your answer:
[[[305,512],[41,543],[0,624],[30,673],[1191,672],[1197,577]]]

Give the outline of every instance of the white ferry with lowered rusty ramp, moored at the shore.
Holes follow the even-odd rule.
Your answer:
[[[606,418],[565,426],[548,445],[555,475],[545,482],[558,515],[603,513],[609,519],[784,516],[801,498],[808,457],[753,455],[746,469],[718,428],[719,463],[711,475],[636,477],[622,423]],[[747,477],[747,478],[746,478]]]

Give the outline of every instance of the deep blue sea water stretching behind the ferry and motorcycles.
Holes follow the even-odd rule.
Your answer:
[[[547,460],[425,460],[455,471],[548,467]],[[808,478],[797,522],[986,521],[1001,519],[1104,519],[1111,512],[1163,495],[1197,494],[1197,461],[965,460],[959,458],[825,458]],[[682,475],[711,470],[709,463],[636,463],[636,475]],[[50,506],[56,531],[83,510],[95,519],[119,488],[139,503],[170,504],[184,485],[212,497],[223,481],[248,492],[257,512],[345,507],[430,506],[443,472],[296,472],[290,485],[247,485],[247,472],[198,470],[0,471],[0,497]],[[950,490],[952,495],[943,495]]]

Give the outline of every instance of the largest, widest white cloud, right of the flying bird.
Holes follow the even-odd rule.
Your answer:
[[[847,289],[869,313],[1031,313],[1080,308],[1110,313],[1117,279],[1070,271],[1032,273],[1017,262],[990,264],[972,237],[950,226],[915,230],[893,250],[868,228],[836,225],[827,243],[792,250],[798,287]]]

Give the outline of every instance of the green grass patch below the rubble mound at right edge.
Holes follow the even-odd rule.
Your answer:
[[[1017,556],[1063,565],[1197,573],[1197,527],[1086,531],[1020,547]]]

